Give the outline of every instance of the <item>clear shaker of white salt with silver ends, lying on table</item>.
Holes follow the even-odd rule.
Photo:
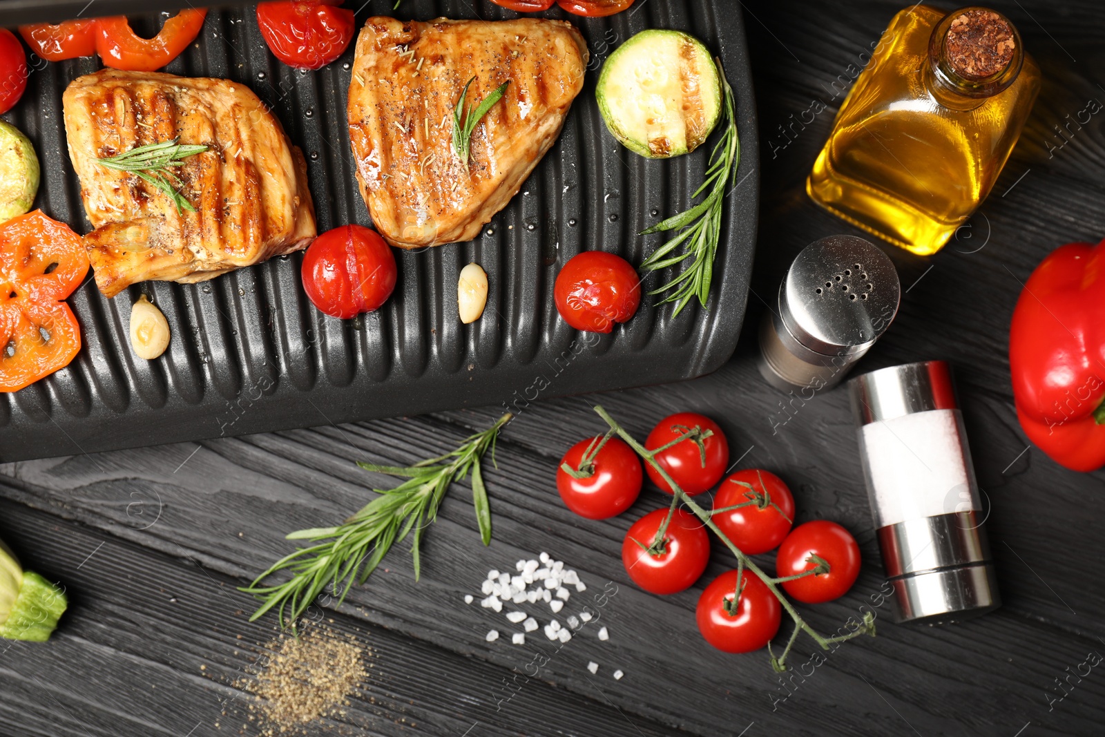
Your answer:
[[[999,607],[948,365],[894,366],[849,387],[896,621],[943,624]]]

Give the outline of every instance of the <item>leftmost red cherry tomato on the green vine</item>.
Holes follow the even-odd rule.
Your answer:
[[[588,449],[601,440],[599,435],[572,445],[556,472],[556,487],[565,505],[588,519],[606,519],[629,509],[641,493],[641,481],[644,478],[636,453],[618,438],[608,440],[581,468],[580,461]],[[565,463],[590,475],[576,478],[564,470]]]

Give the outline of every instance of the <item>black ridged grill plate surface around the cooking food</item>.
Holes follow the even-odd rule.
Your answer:
[[[50,13],[62,4],[43,3],[41,19],[56,20]],[[358,28],[373,14],[516,17],[486,1],[391,6],[372,0],[357,13]],[[136,28],[156,28],[149,2],[130,7],[147,13],[131,15]],[[319,232],[348,222],[370,225],[346,126],[352,44],[334,64],[301,73],[269,53],[254,9],[212,9],[196,44],[165,71],[248,84],[306,156]],[[543,397],[661,383],[717,368],[740,330],[756,233],[756,119],[740,14],[728,0],[638,0],[607,19],[546,14],[572,20],[583,32],[592,55],[587,84],[557,144],[478,239],[396,251],[393,296],[380,310],[350,320],[326,317],[307,301],[302,254],[203,284],[147,282],[114,299],[99,294],[90,274],[70,299],[84,340],[76,360],[0,394],[0,462],[499,402],[524,408]],[[4,25],[28,20],[4,18],[0,9]],[[611,335],[579,334],[558,318],[552,302],[560,266],[585,250],[640,263],[665,236],[636,233],[688,207],[714,143],[691,156],[650,161],[606,130],[594,102],[598,69],[645,28],[685,30],[722,57],[737,95],[738,183],[725,206],[708,310],[695,305],[673,319],[671,305],[656,307],[645,296],[638,315]],[[39,154],[35,207],[87,232],[65,148],[62,92],[98,69],[98,60],[45,63],[32,56],[30,66],[27,93],[4,118]],[[456,317],[456,280],[473,261],[487,272],[491,289],[483,317],[465,326]],[[653,274],[643,286],[664,276]],[[143,293],[172,330],[168,350],[155,361],[137,358],[127,337],[130,304]]]

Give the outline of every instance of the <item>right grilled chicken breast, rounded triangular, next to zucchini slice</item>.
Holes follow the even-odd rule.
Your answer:
[[[349,86],[349,138],[380,234],[404,249],[475,238],[556,140],[587,60],[583,36],[564,21],[368,19]],[[472,77],[466,108],[509,84],[462,161],[453,108]]]

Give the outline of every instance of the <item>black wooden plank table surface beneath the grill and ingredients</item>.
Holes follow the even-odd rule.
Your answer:
[[[406,548],[397,549],[339,611],[326,612],[372,651],[373,667],[349,709],[352,726],[318,734],[1102,734],[1105,674],[1072,673],[1087,653],[1105,652],[1105,592],[1094,569],[1105,552],[1095,524],[1105,519],[1105,476],[1065,471],[1029,448],[1007,362],[1019,280],[1052,248],[1105,234],[1099,116],[1067,137],[1055,128],[1088,101],[1105,101],[1098,3],[997,3],[1040,62],[1043,92],[992,197],[957,238],[929,260],[892,253],[902,309],[860,366],[954,365],[991,505],[1000,610],[945,629],[896,627],[881,615],[876,639],[848,643],[783,684],[766,654],[723,655],[703,642],[693,618],[701,585],[657,598],[629,583],[621,539],[631,518],[664,504],[659,492],[646,489],[630,515],[607,522],[571,515],[556,495],[560,453],[602,427],[591,406],[601,402],[641,438],[663,414],[703,411],[725,429],[734,460],[790,484],[799,520],[835,519],[860,540],[855,589],[803,610],[819,629],[834,630],[883,581],[846,392],[783,406],[757,373],[754,328],[761,298],[803,245],[853,232],[818,210],[802,182],[841,88],[901,0],[748,0],[735,11],[739,4],[758,95],[762,209],[736,354],[695,381],[525,408],[501,439],[499,471],[486,474],[492,545],[478,544],[466,489],[456,488],[425,535],[419,583]],[[815,115],[817,103],[825,109]],[[0,643],[0,735],[236,734],[246,712],[230,684],[275,622],[248,623],[254,602],[235,587],[288,550],[286,531],[333,524],[365,502],[366,485],[388,483],[354,461],[435,455],[499,411],[0,466],[0,538],[28,567],[63,581],[71,599],[48,645]],[[532,646],[485,642],[490,629],[503,629],[502,615],[462,597],[478,592],[488,569],[541,550],[592,588],[613,582],[618,592],[602,612],[609,642],[581,633],[526,681],[514,674],[524,673]],[[718,547],[704,580],[728,567]],[[793,663],[811,652],[803,643]],[[601,663],[596,675],[586,668],[592,660]],[[624,678],[610,677],[614,668]]]

